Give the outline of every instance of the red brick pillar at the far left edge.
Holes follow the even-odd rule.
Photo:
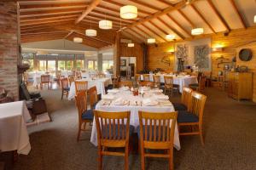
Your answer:
[[[18,85],[18,21],[15,2],[0,3],[0,88],[19,99]]]

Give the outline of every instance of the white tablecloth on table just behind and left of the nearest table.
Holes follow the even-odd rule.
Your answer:
[[[88,88],[96,86],[97,94],[106,94],[105,87],[107,87],[109,84],[112,84],[111,78],[98,78],[96,80],[91,80],[90,78],[83,78],[79,81],[88,81]],[[76,95],[76,88],[75,88],[74,82],[72,82],[67,99],[69,100],[74,99],[75,95]]]

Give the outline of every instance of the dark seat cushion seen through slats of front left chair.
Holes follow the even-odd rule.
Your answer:
[[[122,137],[122,126],[119,127],[119,136]],[[124,126],[126,129],[126,125]],[[134,126],[129,126],[129,136],[134,132],[135,127]],[[113,131],[113,125],[111,125],[111,134],[115,133],[115,136],[118,136],[118,126],[117,124],[115,125],[115,130]],[[104,138],[109,138],[109,125],[102,127],[102,137]]]

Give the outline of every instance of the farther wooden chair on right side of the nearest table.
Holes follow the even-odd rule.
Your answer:
[[[183,88],[181,103],[172,103],[175,111],[188,111],[192,92],[193,90],[191,88]]]

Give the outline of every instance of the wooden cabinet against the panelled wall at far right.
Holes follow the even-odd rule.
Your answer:
[[[234,99],[253,99],[253,73],[230,72],[228,94]]]

